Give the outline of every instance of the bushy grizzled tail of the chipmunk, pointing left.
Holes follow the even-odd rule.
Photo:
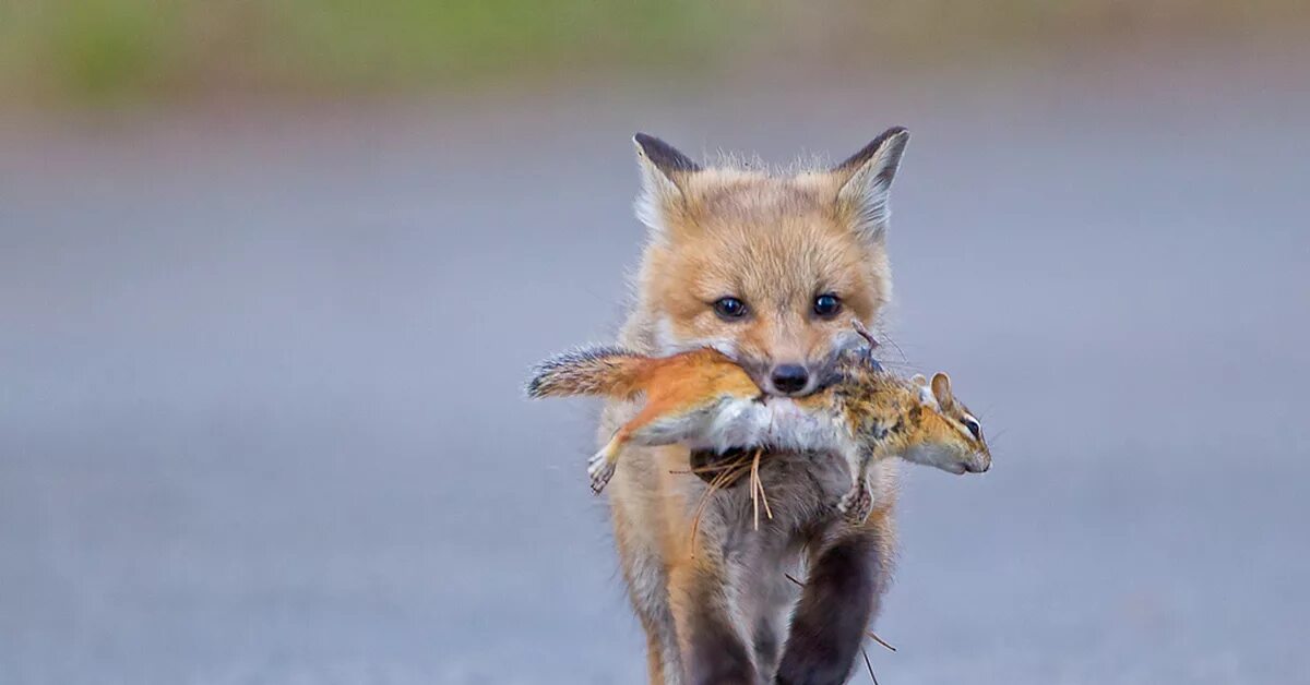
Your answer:
[[[642,389],[650,358],[617,347],[583,347],[555,355],[533,369],[528,397],[600,396],[629,399]]]

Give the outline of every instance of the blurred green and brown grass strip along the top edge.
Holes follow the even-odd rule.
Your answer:
[[[1303,20],[1303,0],[0,0],[0,106],[942,59]],[[947,47],[948,46],[948,47]]]

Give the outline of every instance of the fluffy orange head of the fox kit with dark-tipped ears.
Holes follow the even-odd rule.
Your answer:
[[[909,140],[889,128],[846,161],[778,176],[703,168],[645,134],[637,215],[650,231],[638,308],[662,354],[710,346],[774,396],[804,396],[891,297],[888,193]]]

